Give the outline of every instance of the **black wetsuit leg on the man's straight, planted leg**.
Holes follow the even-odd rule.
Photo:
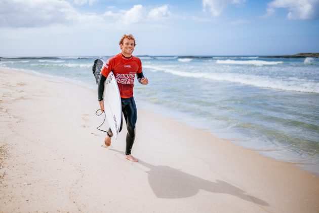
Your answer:
[[[137,109],[133,97],[122,99],[122,111],[128,129],[125,154],[130,155],[135,140],[135,124],[137,121]]]

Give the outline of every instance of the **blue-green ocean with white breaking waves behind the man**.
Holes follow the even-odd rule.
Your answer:
[[[135,81],[138,108],[319,175],[319,58],[139,57],[149,85]],[[109,57],[1,58],[0,67],[96,90],[96,58]]]

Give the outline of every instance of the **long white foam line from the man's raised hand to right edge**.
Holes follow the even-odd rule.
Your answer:
[[[286,91],[319,93],[319,83],[306,81],[303,79],[273,79],[268,76],[253,76],[246,74],[232,73],[189,73],[179,70],[161,68],[158,66],[145,65],[144,68],[150,68],[153,72],[165,72],[176,76],[191,77],[199,79],[210,79],[214,81],[227,81],[251,85],[261,88],[279,89]]]

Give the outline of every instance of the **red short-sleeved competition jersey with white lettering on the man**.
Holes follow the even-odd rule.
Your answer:
[[[133,55],[130,58],[126,58],[122,53],[119,53],[106,61],[101,74],[107,78],[111,71],[116,78],[121,97],[133,97],[135,74],[142,73],[141,59]]]

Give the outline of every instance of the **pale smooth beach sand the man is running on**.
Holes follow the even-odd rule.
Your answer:
[[[138,109],[105,148],[97,94],[0,70],[1,212],[319,212],[319,177]],[[137,106],[139,107],[139,106]]]

